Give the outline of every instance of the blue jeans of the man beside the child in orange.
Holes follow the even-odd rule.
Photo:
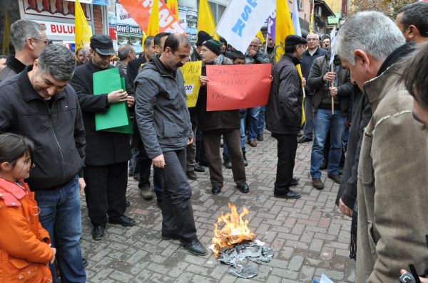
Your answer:
[[[58,190],[36,191],[35,198],[40,208],[41,225],[48,231],[52,246],[56,247],[61,283],[86,282],[80,246],[82,223],[78,176]],[[50,265],[50,268],[56,280],[55,266]]]

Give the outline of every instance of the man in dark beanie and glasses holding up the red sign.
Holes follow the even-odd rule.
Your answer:
[[[209,39],[202,43],[200,57],[205,65],[232,65],[232,60],[221,55],[221,43]],[[205,65],[200,76],[200,90],[196,110],[198,112],[199,129],[203,133],[205,154],[210,168],[211,193],[221,193],[223,187],[223,172],[220,156],[220,138],[228,144],[230,161],[232,161],[233,180],[242,193],[248,193],[250,188],[246,183],[243,152],[240,148],[240,114],[239,110],[207,111],[207,87]]]

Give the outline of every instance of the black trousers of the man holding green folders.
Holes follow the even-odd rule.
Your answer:
[[[86,182],[86,205],[93,225],[105,225],[108,218],[125,213],[128,162],[86,166],[83,174]]]

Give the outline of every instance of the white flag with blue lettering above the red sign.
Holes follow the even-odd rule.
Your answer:
[[[276,0],[232,0],[216,32],[235,49],[245,53],[250,42],[275,10]]]

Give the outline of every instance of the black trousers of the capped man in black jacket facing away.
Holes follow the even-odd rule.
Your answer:
[[[277,176],[275,191],[287,191],[292,182],[292,171],[295,166],[297,135],[272,134],[277,139]]]

